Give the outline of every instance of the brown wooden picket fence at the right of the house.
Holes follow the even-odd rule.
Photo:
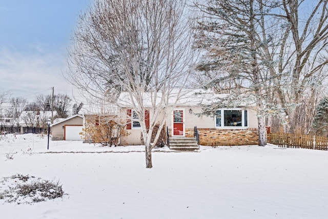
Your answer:
[[[327,137],[290,134],[290,133],[270,133],[268,143],[278,145],[280,148],[307,148],[316,150],[328,150]]]

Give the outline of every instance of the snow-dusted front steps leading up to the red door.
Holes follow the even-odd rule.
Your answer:
[[[170,137],[170,149],[193,151],[198,150],[199,146],[195,137]]]

